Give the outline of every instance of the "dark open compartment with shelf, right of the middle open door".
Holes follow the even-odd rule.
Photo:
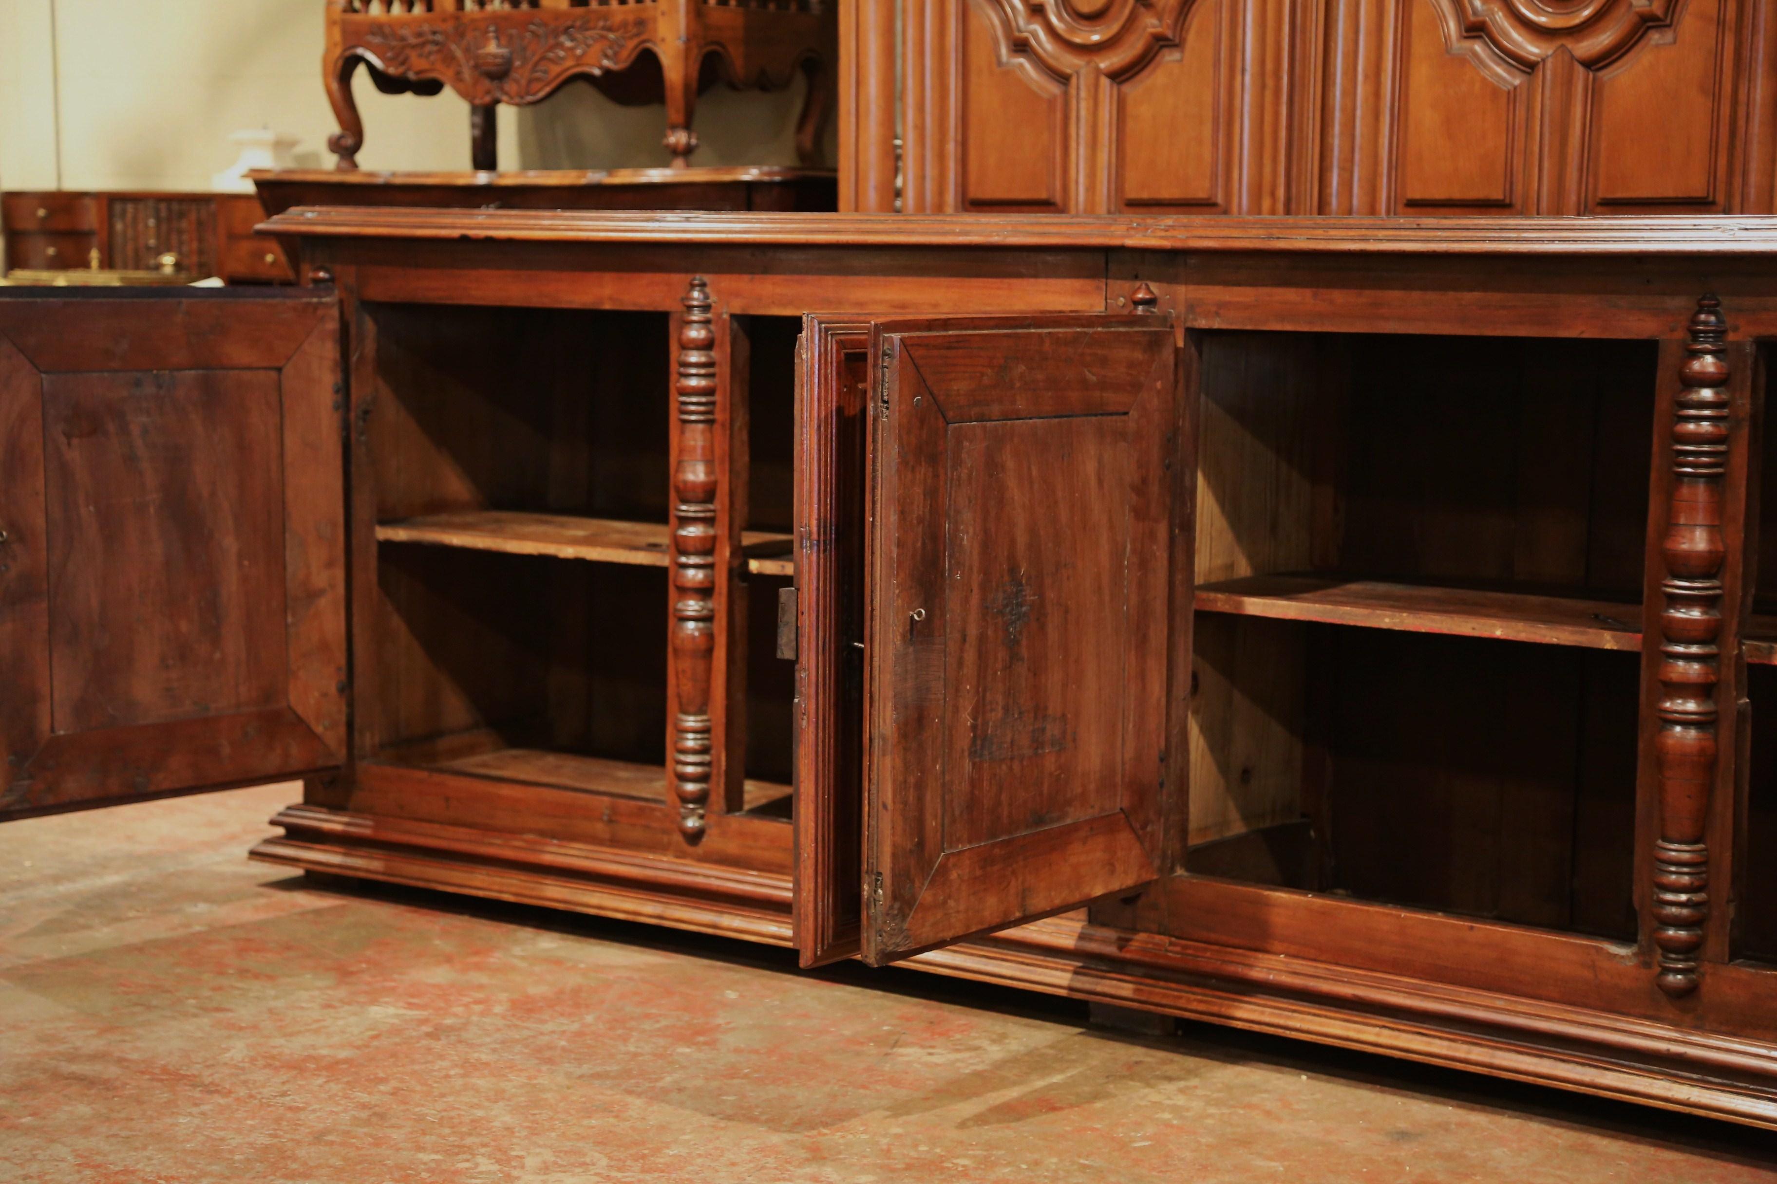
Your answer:
[[[1631,939],[1654,344],[1198,348],[1185,870]]]

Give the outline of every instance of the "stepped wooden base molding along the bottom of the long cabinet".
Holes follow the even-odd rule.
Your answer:
[[[769,872],[291,806],[252,857],[791,944]],[[901,966],[1777,1129],[1777,1046],[1299,957],[1050,918]]]

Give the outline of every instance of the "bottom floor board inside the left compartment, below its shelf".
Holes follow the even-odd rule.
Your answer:
[[[641,801],[666,801],[666,770],[661,765],[643,765],[604,756],[583,756],[554,749],[506,747],[490,728],[426,740],[382,753],[382,762],[458,772],[492,781],[546,785],[556,790],[583,793],[610,793]],[[791,786],[775,781],[745,785],[746,809],[762,809],[791,795]],[[787,811],[784,811],[787,817]]]

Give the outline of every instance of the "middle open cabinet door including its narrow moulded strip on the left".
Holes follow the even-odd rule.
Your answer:
[[[801,362],[803,962],[1157,879],[1173,323],[810,318]]]

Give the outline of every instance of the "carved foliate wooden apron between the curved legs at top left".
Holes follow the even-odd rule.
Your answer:
[[[629,66],[647,44],[641,9],[464,12],[348,21],[341,55],[357,55],[396,78],[435,78],[467,101],[526,105],[570,75]]]

